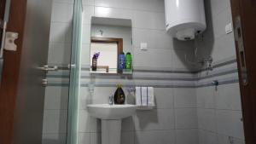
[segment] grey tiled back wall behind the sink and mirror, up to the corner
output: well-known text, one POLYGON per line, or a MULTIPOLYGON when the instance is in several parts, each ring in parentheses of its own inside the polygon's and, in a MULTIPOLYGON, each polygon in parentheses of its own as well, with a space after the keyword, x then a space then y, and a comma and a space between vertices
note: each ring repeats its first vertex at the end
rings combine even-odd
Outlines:
MULTIPOLYGON (((91 78, 82 71, 79 112, 79 144, 101 143, 101 122, 91 118, 86 110, 88 103, 108 103, 108 96, 115 91, 114 84, 154 85, 157 107, 152 111, 137 113, 122 121, 122 144, 198 143, 196 95, 193 88, 171 88, 166 76, 177 78, 177 74, 157 71, 190 71, 192 67, 184 61, 184 54, 191 55, 193 43, 178 42, 165 30, 163 0, 95 0, 84 3, 84 47, 83 66, 90 65, 90 16, 131 19, 133 41, 133 78, 91 78), (102 13, 102 11, 104 13, 102 13), (148 43, 148 50, 139 49, 140 43, 148 43), (146 70, 147 72, 140 72, 146 70), (151 72, 154 71, 154 72, 151 72), (172 76, 175 75, 175 76, 172 76), (152 79, 155 78, 155 79, 152 79), (162 79, 162 80, 160 80, 162 79), (88 92, 86 84, 95 84, 94 92, 88 92), (186 138, 184 138, 184 136, 186 138)), ((191 73, 183 73, 191 77, 191 73)), ((186 83, 186 82, 184 82, 186 83)), ((191 82, 188 81, 189 84, 191 82)), ((128 94, 128 102, 134 104, 134 94, 128 94)))

